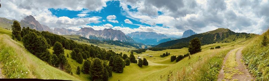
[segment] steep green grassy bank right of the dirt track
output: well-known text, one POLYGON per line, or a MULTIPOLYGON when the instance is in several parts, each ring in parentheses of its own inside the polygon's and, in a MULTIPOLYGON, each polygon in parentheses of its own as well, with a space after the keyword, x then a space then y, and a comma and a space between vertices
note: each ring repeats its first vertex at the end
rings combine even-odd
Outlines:
MULTIPOLYGON (((256 77, 256 80, 269 80, 269 45, 262 46, 262 37, 267 35, 269 38, 269 30, 255 40, 251 41, 248 46, 242 50, 244 62, 248 65, 251 74, 256 77)), ((268 41, 269 42, 269 41, 268 41)))

